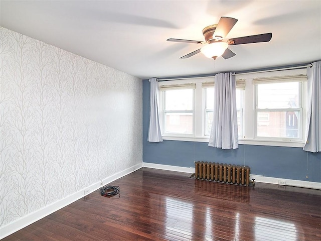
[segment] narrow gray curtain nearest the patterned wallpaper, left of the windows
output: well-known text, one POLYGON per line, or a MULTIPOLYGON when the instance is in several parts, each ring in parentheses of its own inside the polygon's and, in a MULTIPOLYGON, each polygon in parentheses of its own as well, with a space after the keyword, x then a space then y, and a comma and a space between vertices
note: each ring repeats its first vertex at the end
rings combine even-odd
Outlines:
POLYGON ((150 108, 149 108, 149 129, 148 142, 163 142, 161 128, 159 126, 159 87, 156 78, 149 79, 150 82, 150 108))

